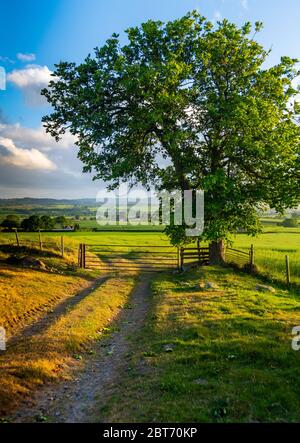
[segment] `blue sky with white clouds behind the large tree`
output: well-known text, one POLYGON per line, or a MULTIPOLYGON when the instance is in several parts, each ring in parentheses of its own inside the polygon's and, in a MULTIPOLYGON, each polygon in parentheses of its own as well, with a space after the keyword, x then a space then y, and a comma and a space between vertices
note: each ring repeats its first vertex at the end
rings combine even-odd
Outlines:
POLYGON ((264 22, 258 40, 281 55, 300 58, 299 0, 2 0, 0 66, 0 198, 95 196, 101 183, 81 174, 73 139, 45 136, 39 97, 54 64, 82 61, 113 33, 148 19, 167 21, 198 9, 210 20, 264 22), (4 141, 3 141, 4 140, 4 141))

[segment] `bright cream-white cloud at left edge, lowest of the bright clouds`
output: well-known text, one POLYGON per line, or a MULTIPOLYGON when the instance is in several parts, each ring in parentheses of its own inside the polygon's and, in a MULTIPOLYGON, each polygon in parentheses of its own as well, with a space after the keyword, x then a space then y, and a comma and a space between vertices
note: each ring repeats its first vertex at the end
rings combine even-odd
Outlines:
POLYGON ((9 138, 0 137, 0 148, 0 164, 31 170, 56 169, 56 165, 38 149, 18 148, 9 138))

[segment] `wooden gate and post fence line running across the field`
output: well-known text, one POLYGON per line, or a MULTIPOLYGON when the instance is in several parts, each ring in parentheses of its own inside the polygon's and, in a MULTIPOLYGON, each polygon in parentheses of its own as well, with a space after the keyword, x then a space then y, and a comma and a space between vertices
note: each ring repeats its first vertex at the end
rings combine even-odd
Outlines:
MULTIPOLYGON (((31 233, 31 238, 28 238, 27 233, 18 232, 17 230, 12 234, 10 239, 6 239, 6 245, 16 246, 20 248, 39 249, 40 251, 51 250, 60 256, 64 257, 66 253, 74 254, 77 251, 78 243, 70 242, 68 239, 65 245, 64 237, 47 237, 45 232, 31 233)), ((83 252, 79 246, 78 264, 83 267, 83 264, 89 268, 97 267, 98 269, 106 269, 112 267, 122 267, 122 269, 129 269, 138 267, 139 269, 149 268, 157 270, 184 270, 194 266, 209 265, 209 248, 200 247, 164 247, 157 250, 155 245, 145 245, 142 248, 137 245, 111 245, 109 243, 103 245, 87 245, 87 249, 83 252), (166 249, 169 248, 169 249, 166 249), (125 260, 128 262, 125 264, 125 260)), ((244 268, 248 266, 249 269, 255 269, 258 274, 266 276, 269 280, 285 282, 287 285, 299 285, 299 263, 295 262, 295 257, 282 254, 281 257, 276 257, 276 263, 267 253, 261 257, 261 250, 258 249, 257 257, 253 245, 248 250, 241 250, 227 247, 225 249, 225 262, 231 265, 244 268), (294 260, 293 260, 294 259, 294 260), (257 266, 258 265, 258 266, 257 266)), ((297 258, 297 257, 296 257, 297 258)))

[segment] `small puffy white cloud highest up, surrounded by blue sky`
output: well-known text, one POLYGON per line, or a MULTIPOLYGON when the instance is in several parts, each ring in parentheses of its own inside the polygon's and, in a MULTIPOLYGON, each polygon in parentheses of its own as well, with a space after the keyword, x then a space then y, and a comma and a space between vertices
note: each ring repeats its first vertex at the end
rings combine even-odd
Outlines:
POLYGON ((24 69, 14 69, 7 74, 7 81, 20 88, 28 104, 44 105, 46 99, 41 96, 41 90, 48 86, 52 72, 48 66, 27 65, 24 69))

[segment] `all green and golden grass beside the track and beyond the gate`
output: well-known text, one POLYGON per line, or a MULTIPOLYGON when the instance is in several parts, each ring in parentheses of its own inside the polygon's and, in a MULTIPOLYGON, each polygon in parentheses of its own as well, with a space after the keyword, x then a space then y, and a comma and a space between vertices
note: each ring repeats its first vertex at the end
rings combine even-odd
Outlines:
MULTIPOLYGON (((53 249, 55 242, 58 252, 60 235, 42 233, 45 246, 50 242, 53 249)), ((100 275, 73 266, 80 243, 108 245, 106 249, 111 251, 111 245, 122 245, 124 258, 132 254, 134 245, 145 250, 169 245, 161 232, 63 235, 65 259, 53 254, 55 251, 35 250, 37 257, 53 268, 41 272, 6 264, 6 257, 19 250, 4 247, 16 243, 13 233, 0 234, 0 323, 8 332, 14 334, 15 325, 21 328, 49 315, 57 303, 71 299, 100 275)), ((34 242, 38 246, 38 233, 19 236, 21 245, 34 242)), ((182 275, 153 274, 145 326, 138 335, 128 337, 132 349, 128 372, 105 408, 99 405, 101 417, 108 422, 299 421, 300 354, 291 348, 292 328, 300 324, 299 290, 298 286, 289 290, 276 283, 284 281, 288 254, 292 281, 300 284, 299 240, 299 228, 278 226, 266 226, 257 238, 245 234, 234 238, 234 247, 239 249, 247 250, 254 244, 256 263, 274 280, 275 293, 259 292, 259 277, 229 267, 203 267, 182 275), (218 289, 199 289, 199 283, 205 281, 215 282, 218 289), (172 352, 165 352, 166 345, 172 346, 172 352)), ((30 250, 21 249, 20 253, 30 250)), ((118 275, 111 273, 102 289, 67 310, 44 333, 33 335, 30 351, 22 343, 14 346, 3 358, 0 371, 0 411, 1 406, 3 411, 13 410, 38 386, 63 378, 57 368, 65 362, 72 365, 75 354, 88 358, 100 326, 110 327, 120 306, 130 302, 136 278, 125 269, 118 275), (70 325, 76 326, 71 335, 70 325), (53 341, 57 336, 60 340, 53 341)))

